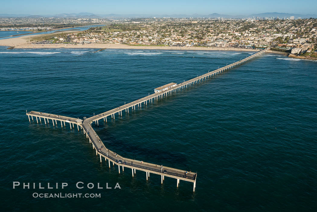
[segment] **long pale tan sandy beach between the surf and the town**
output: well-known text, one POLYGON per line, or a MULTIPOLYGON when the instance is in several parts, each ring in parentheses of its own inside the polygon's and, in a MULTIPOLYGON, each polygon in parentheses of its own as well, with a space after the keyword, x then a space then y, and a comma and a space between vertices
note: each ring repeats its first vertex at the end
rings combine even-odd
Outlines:
MULTIPOLYGON (((65 31, 71 32, 71 31, 65 31)), ((53 35, 54 33, 52 33, 53 35)), ((178 46, 131 46, 117 43, 87 43, 87 44, 31 44, 29 40, 38 35, 26 35, 0 40, 0 46, 14 47, 16 49, 36 48, 93 48, 93 49, 150 49, 150 50, 212 50, 212 51, 257 51, 253 49, 240 48, 217 48, 217 47, 178 47, 178 46)))

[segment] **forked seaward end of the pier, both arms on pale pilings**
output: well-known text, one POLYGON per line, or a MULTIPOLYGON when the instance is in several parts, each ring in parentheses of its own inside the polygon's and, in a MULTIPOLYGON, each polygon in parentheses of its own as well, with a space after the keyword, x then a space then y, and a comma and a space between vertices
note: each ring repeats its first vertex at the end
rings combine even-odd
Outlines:
POLYGON ((88 119, 81 120, 67 116, 59 116, 55 114, 42 113, 37 111, 27 112, 26 115, 29 117, 29 122, 31 122, 31 120, 37 120, 37 123, 43 121, 45 124, 51 122, 53 123, 53 126, 59 126, 60 123, 61 127, 68 126, 65 124, 65 122, 67 122, 69 123, 70 129, 75 129, 74 126, 76 125, 78 131, 82 130, 83 134, 89 140, 89 143, 92 144, 92 148, 96 151, 96 156, 99 155, 100 157, 100 162, 102 162, 103 159, 105 159, 105 162, 108 161, 109 168, 111 168, 111 166, 117 165, 119 173, 121 169, 122 171, 124 171, 125 167, 132 170, 133 177, 136 174, 136 170, 144 171, 146 172, 146 180, 148 180, 150 173, 158 174, 161 176, 161 183, 163 183, 165 176, 167 176, 177 179, 177 187, 179 184, 179 180, 193 182, 193 190, 195 191, 197 173, 165 167, 153 163, 133 160, 120 156, 117 153, 105 147, 104 143, 101 141, 97 133, 92 128, 92 122, 88 121, 88 119))

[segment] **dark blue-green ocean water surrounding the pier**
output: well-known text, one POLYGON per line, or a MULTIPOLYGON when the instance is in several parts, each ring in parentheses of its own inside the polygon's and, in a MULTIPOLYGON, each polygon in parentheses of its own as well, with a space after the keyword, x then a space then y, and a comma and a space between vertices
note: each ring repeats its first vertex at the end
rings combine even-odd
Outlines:
POLYGON ((0 47, 1 211, 316 211, 317 62, 262 55, 93 124, 122 156, 197 172, 193 192, 190 182, 177 188, 168 177, 161 184, 159 175, 146 181, 141 171, 119 174, 100 163, 82 131, 29 123, 25 110, 90 117, 252 52, 94 51, 0 47), (68 187, 13 189, 15 181, 68 187), (34 198, 35 192, 101 197, 34 198))

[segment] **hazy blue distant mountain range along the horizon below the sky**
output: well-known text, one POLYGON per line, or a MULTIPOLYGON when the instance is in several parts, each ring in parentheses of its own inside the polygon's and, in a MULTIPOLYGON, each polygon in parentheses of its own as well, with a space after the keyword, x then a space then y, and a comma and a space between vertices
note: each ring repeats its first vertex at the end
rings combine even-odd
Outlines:
POLYGON ((172 17, 172 18, 189 18, 189 17, 194 17, 194 18, 252 18, 252 17, 291 17, 294 16, 295 18, 301 17, 301 18, 317 18, 317 15, 315 14, 307 14, 307 15, 301 15, 301 14, 292 14, 292 13, 279 13, 279 12, 267 12, 267 13, 259 13, 259 14, 252 14, 252 15, 238 15, 238 16, 231 16, 231 15, 221 15, 218 13, 212 13, 209 15, 199 15, 199 14, 193 14, 193 15, 184 15, 184 14, 172 14, 172 15, 149 15, 149 14, 94 14, 94 13, 89 13, 89 12, 81 12, 81 13, 61 13, 61 14, 55 14, 55 15, 25 15, 25 14, 0 14, 0 17, 74 17, 74 18, 153 18, 153 17, 172 17))

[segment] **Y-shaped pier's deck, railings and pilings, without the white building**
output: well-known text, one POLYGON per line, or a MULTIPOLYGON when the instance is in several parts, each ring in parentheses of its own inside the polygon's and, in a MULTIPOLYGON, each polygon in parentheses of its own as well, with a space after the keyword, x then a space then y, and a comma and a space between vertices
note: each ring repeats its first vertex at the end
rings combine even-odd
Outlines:
MULTIPOLYGON (((97 125, 98 124, 98 120, 100 120, 101 118, 104 119, 105 122, 107 122, 107 116, 110 116, 111 115, 111 118, 114 119, 114 115, 115 113, 121 113, 121 116, 122 116, 122 110, 126 110, 127 113, 129 113, 129 107, 134 107, 135 109, 135 106, 138 105, 139 107, 141 107, 141 104, 144 103, 144 104, 147 104, 147 101, 149 100, 149 103, 150 103, 150 100, 151 100, 151 103, 152 103, 152 99, 154 98, 155 99, 158 99, 159 97, 163 97, 164 95, 166 96, 167 94, 169 93, 172 93, 172 92, 176 92, 176 90, 180 90, 180 89, 184 89, 185 86, 187 88, 187 86, 191 86, 191 84, 194 84, 194 83, 198 83, 200 82, 200 80, 204 80, 208 77, 212 77, 214 76, 215 74, 218 74, 218 73, 221 73, 222 71, 224 70, 227 70, 227 69, 230 69, 230 68, 233 68, 241 63, 244 63, 256 56, 259 56, 261 54, 264 54, 267 50, 269 50, 269 48, 265 49, 265 50, 261 50, 259 52, 256 52, 255 54, 249 56, 249 57, 246 57, 244 59, 241 59, 240 61, 237 61, 235 63, 232 63, 230 65, 226 65, 222 68, 218 68, 217 70, 214 70, 214 71, 211 71, 211 72, 208 72, 208 73, 205 73, 201 76, 197 76, 195 78, 192 78, 192 79, 189 79, 187 81, 184 81, 183 83, 180 83, 178 85, 176 85, 175 87, 171 88, 171 89, 168 89, 168 90, 165 90, 165 91, 162 91, 162 92, 157 92, 157 93, 154 93, 152 95, 149 95, 149 96, 145 96, 143 98, 140 98, 136 101, 133 101, 131 103, 127 103, 127 104, 124 104, 118 108, 115 108, 115 109, 112 109, 112 110, 108 110, 102 114, 98 114, 96 116, 92 116, 92 117, 89 117, 88 119, 84 119, 81 120, 79 118, 75 119, 75 118, 71 118, 71 117, 67 117, 67 116, 57 116, 57 115, 54 115, 54 114, 49 114, 49 113, 41 113, 41 112, 36 112, 36 111, 31 111, 31 112, 27 112, 26 115, 29 117, 31 116, 32 117, 32 120, 33 120, 33 116, 36 116, 36 121, 38 123, 38 120, 37 120, 37 117, 40 118, 40 122, 41 122, 41 117, 44 118, 44 122, 46 124, 46 120, 45 118, 47 119, 47 121, 49 121, 49 119, 51 119, 53 121, 53 125, 54 125, 54 120, 55 120, 55 123, 57 124, 56 120, 60 121, 61 122, 61 126, 62 126, 62 122, 64 122, 64 126, 65 126, 65 122, 68 122, 69 125, 70 125, 70 129, 72 129, 71 127, 71 124, 70 123, 73 123, 73 127, 74 127, 74 124, 77 124, 77 129, 79 131, 79 128, 78 126, 81 126, 84 130, 84 134, 86 133, 86 136, 87 138, 89 137, 89 141, 92 143, 93 145, 93 149, 96 150, 96 155, 99 154, 100 156, 100 162, 102 161, 101 160, 101 156, 103 156, 105 159, 108 159, 108 162, 109 162, 109 168, 110 168, 110 161, 113 162, 113 165, 116 164, 118 165, 118 168, 119 168, 119 173, 120 173, 120 166, 122 166, 122 169, 123 167, 128 167, 128 168, 131 168, 132 169, 132 176, 133 176, 133 172, 135 173, 135 170, 138 169, 138 170, 141 170, 141 171, 145 171, 146 172, 146 180, 148 179, 148 176, 149 176, 149 173, 154 173, 154 174, 158 174, 158 175, 161 175, 161 183, 163 183, 163 180, 164 180, 164 176, 168 176, 168 177, 172 177, 172 178, 176 178, 177 179, 177 186, 178 186, 178 183, 179 183, 179 180, 184 180, 184 181, 189 181, 189 182, 193 182, 194 183, 194 187, 193 187, 193 191, 195 191, 195 188, 196 188, 196 177, 197 177, 197 173, 188 173, 187 171, 184 171, 184 170, 180 170, 180 169, 173 169, 173 168, 170 168, 170 167, 162 167, 162 166, 159 166, 157 164, 152 164, 152 163, 147 163, 147 162, 141 162, 141 161, 136 161, 136 160, 132 160, 132 159, 129 159, 129 158, 124 158, 120 155, 117 155, 115 152, 107 149, 103 142, 100 140, 99 136, 96 134, 96 132, 94 131, 94 129, 92 128, 91 126, 91 123, 94 121, 97 125), (85 126, 89 126, 88 130, 85 126), (94 136, 91 136, 91 134, 94 134, 94 136), (99 142, 100 143, 99 143, 99 142), (97 142, 97 143, 96 143, 97 142), (100 147, 100 148, 99 148, 100 147), (108 152, 103 152, 102 151, 102 147, 105 147, 104 150, 108 151, 108 152), (115 155, 114 156, 110 156, 110 154, 113 154, 115 155), (134 170, 133 170, 134 169, 134 170)), ((120 115, 119 115, 120 116, 120 115)), ((29 121, 30 121, 30 117, 29 117, 29 121)), ((30 121, 31 122, 31 121, 30 121)))

